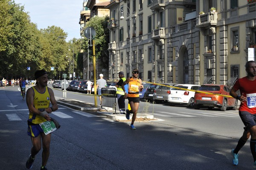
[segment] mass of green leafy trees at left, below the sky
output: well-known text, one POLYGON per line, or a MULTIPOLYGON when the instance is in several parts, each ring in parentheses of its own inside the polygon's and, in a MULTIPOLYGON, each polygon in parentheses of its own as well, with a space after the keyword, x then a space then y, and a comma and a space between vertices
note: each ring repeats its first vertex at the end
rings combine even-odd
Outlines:
POLYGON ((81 44, 77 39, 66 42, 66 38, 67 33, 57 26, 38 30, 23 6, 14 0, 0 0, 0 77, 34 79, 37 69, 50 71, 51 67, 56 69, 49 78, 60 71, 67 73, 72 56, 68 49, 72 47, 77 56, 81 44))

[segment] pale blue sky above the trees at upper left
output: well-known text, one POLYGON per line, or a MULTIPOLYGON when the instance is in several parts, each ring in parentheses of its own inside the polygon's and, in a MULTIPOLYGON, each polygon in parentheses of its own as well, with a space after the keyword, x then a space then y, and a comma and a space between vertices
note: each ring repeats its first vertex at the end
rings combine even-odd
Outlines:
POLYGON ((15 0, 29 12, 32 23, 38 29, 48 26, 59 26, 66 32, 66 41, 80 36, 80 11, 83 9, 84 0, 15 0))

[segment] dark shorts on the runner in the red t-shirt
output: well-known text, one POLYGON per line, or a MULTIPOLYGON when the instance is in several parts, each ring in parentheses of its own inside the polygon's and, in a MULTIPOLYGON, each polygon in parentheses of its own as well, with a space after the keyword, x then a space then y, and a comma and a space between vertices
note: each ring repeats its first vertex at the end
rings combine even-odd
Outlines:
POLYGON ((239 116, 244 123, 244 130, 249 130, 251 127, 256 126, 256 114, 251 114, 247 111, 239 111, 239 116))

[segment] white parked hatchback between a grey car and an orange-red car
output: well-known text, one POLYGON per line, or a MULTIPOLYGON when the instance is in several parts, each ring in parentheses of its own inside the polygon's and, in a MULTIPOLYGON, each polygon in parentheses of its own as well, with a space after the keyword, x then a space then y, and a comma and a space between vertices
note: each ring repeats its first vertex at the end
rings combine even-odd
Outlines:
MULTIPOLYGON (((199 85, 195 84, 176 84, 174 87, 180 87, 183 89, 190 89, 190 90, 198 90, 200 88, 199 85)), ((175 104, 186 104, 187 107, 194 107, 194 96, 195 92, 177 89, 171 89, 171 94, 168 96, 168 102, 171 105, 175 104)))

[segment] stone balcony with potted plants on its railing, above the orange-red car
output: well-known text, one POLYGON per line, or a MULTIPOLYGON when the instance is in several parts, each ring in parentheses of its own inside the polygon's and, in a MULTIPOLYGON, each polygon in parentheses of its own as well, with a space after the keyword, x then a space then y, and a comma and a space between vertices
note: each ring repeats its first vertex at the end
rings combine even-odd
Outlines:
POLYGON ((215 34, 215 26, 217 25, 218 15, 217 12, 208 12, 196 17, 196 28, 199 28, 204 34, 204 31, 210 29, 212 34, 215 34))

